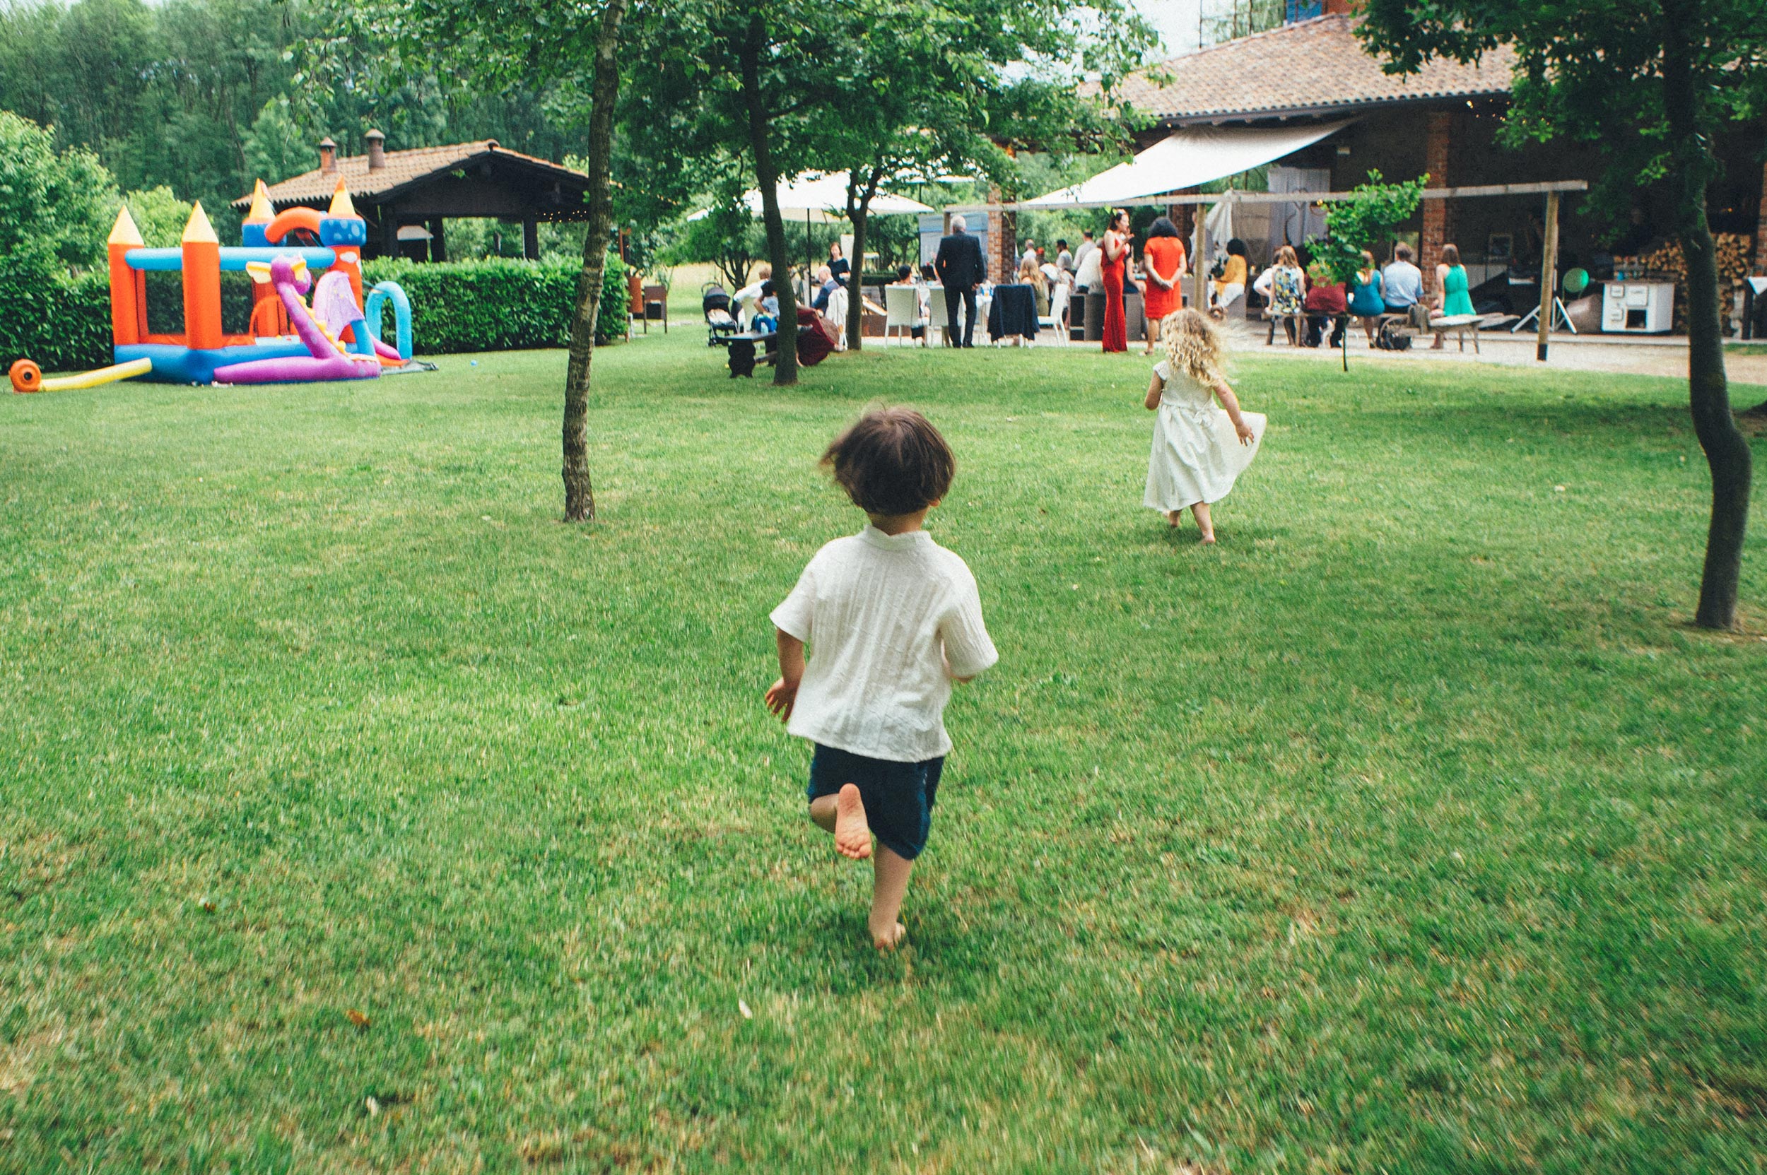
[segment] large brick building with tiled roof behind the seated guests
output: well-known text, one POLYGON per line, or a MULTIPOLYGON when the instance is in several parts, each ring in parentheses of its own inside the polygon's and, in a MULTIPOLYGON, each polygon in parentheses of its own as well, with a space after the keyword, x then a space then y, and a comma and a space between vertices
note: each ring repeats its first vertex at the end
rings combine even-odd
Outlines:
MULTIPOLYGON (((1592 145, 1553 141, 1511 150, 1497 143, 1509 102, 1513 57, 1507 49, 1475 65, 1437 60, 1419 74, 1396 78, 1382 72, 1380 60, 1362 49, 1355 18, 1343 7, 1345 0, 1329 0, 1325 16, 1177 57, 1157 71, 1127 78, 1126 97, 1154 118, 1138 134, 1136 148, 1150 147, 1177 127, 1295 127, 1350 118, 1341 131, 1272 161, 1272 191, 1345 191, 1364 182, 1369 170, 1389 180, 1428 171, 1430 184, 1442 187, 1594 180, 1601 173, 1592 145), (1166 78, 1156 83, 1154 72, 1166 78)), ((1763 138, 1760 125, 1735 127, 1721 138, 1725 171, 1709 203, 1714 231, 1755 237, 1758 265, 1767 265, 1763 138)), ((1672 237, 1672 200, 1666 186, 1640 187, 1634 203, 1643 223, 1638 231, 1672 237)), ((1562 205, 1562 267, 1596 262, 1613 228, 1580 205, 1578 198, 1562 205)), ((1173 214, 1179 219, 1184 208, 1175 207, 1173 214)), ((1445 242, 1460 246, 1477 281, 1511 265, 1536 269, 1541 221, 1539 196, 1426 200, 1401 235, 1415 237, 1419 263, 1431 281, 1445 242)), ((1297 228, 1316 231, 1302 221, 1286 230, 1290 240, 1297 228)), ((1009 223, 1007 230, 995 233, 1002 246, 1011 237, 1009 223)), ((1283 226, 1270 231, 1278 244, 1285 239, 1283 226)), ((1248 244, 1256 254, 1258 242, 1248 235, 1248 244)))

